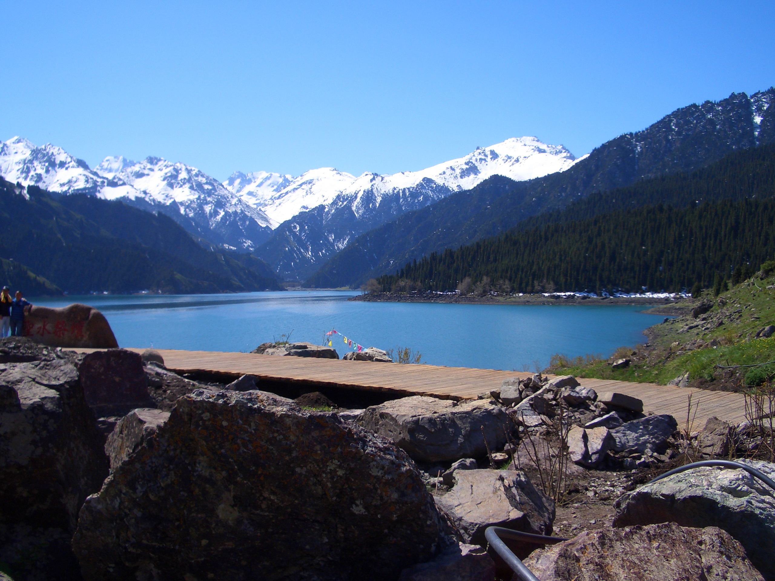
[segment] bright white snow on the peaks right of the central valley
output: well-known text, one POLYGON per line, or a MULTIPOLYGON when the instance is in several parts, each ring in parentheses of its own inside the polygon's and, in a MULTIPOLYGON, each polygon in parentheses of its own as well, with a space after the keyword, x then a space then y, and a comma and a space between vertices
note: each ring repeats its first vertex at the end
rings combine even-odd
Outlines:
POLYGON ((429 201, 433 201, 453 191, 469 190, 494 175, 530 180, 567 170, 574 161, 573 154, 563 146, 547 145, 536 137, 512 137, 425 170, 398 174, 367 172, 354 177, 331 167, 321 167, 293 178, 286 185, 275 178, 270 187, 264 186, 261 180, 279 174, 238 172, 224 185, 280 223, 319 205, 351 205, 360 216, 367 208, 379 205, 385 196, 400 196, 409 188, 420 187, 422 192, 428 192, 429 201))

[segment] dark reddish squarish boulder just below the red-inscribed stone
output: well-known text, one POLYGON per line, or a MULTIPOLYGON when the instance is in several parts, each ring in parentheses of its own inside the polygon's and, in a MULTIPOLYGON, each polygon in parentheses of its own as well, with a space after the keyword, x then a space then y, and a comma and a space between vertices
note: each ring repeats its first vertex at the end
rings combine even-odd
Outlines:
POLYGON ((156 407, 140 355, 126 349, 95 351, 78 366, 86 403, 100 418, 124 415, 136 407, 156 407))

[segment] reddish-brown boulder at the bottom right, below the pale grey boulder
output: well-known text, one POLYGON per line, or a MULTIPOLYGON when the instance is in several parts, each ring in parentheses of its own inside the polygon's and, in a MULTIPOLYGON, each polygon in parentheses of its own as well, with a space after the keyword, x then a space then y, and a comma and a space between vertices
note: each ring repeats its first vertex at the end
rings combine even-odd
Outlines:
POLYGON ((725 531, 672 523, 585 531, 533 552, 525 566, 541 581, 763 581, 725 531))

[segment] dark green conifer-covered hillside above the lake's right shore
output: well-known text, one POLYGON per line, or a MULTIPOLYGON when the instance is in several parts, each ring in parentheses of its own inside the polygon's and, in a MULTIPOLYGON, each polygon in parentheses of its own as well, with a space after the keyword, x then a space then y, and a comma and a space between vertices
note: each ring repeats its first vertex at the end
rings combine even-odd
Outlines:
POLYGON ((775 144, 593 194, 529 229, 432 253, 378 282, 382 290, 454 290, 466 277, 520 292, 709 287, 775 254, 773 197, 775 144))

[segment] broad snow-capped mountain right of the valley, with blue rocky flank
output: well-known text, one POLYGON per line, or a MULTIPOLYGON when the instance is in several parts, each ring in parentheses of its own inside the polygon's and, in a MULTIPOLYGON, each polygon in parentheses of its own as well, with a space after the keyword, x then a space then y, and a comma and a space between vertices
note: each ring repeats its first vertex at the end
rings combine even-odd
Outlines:
MULTIPOLYGON (((282 224, 257 253, 282 276, 304 278, 353 236, 406 211, 469 190, 494 175, 529 180, 567 170, 576 161, 563 146, 521 137, 479 147, 425 170, 359 177, 332 168, 308 171, 265 194, 261 208, 282 224)), ((250 185, 241 184, 242 192, 252 191, 250 185)))

